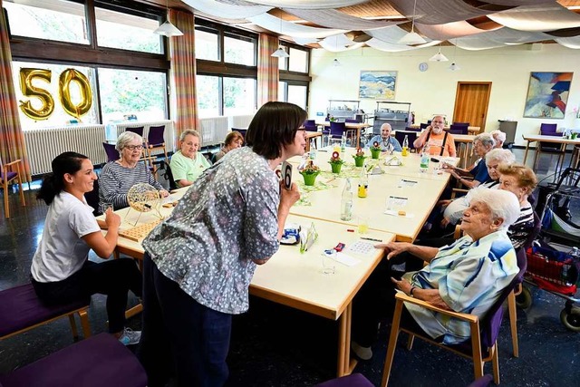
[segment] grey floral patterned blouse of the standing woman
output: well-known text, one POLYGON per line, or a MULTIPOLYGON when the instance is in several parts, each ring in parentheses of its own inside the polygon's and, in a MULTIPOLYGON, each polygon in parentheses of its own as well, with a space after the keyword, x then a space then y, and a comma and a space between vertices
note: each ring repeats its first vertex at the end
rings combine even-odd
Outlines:
POLYGON ((199 304, 248 308, 253 259, 278 250, 278 179, 251 148, 232 150, 196 179, 169 218, 143 241, 160 272, 199 304))

